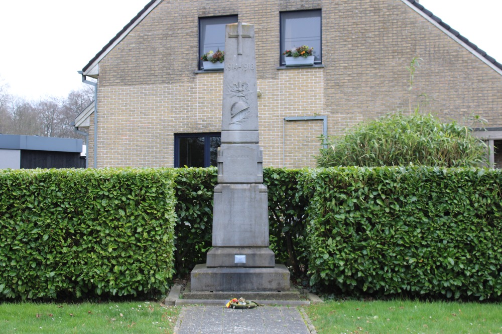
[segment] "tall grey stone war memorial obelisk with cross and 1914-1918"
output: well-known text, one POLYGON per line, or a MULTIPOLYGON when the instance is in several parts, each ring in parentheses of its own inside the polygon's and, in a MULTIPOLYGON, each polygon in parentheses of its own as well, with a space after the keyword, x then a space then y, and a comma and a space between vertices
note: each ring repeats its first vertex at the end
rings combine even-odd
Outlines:
POLYGON ((221 147, 213 248, 191 273, 191 291, 287 291, 290 273, 269 249, 267 187, 259 145, 255 27, 226 26, 221 147))

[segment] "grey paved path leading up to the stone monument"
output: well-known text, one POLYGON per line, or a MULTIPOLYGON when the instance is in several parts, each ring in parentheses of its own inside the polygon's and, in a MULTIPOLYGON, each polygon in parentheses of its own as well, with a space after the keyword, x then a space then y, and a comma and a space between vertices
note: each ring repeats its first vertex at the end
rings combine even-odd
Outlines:
POLYGON ((305 312, 297 307, 263 306, 232 309, 224 306, 184 306, 178 316, 174 332, 176 334, 313 334, 315 330, 305 312))

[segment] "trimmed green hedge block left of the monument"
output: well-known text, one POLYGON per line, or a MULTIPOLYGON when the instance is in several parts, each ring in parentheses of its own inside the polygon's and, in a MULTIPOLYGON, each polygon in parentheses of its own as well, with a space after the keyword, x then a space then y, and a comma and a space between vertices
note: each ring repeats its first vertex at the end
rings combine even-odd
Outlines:
POLYGON ((173 170, 0 171, 0 299, 164 292, 173 170))

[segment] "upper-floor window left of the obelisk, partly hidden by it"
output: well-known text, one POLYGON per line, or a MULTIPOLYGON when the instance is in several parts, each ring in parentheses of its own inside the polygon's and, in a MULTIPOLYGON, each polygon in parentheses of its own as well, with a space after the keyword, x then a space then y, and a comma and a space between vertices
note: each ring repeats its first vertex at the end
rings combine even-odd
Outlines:
POLYGON ((225 26, 236 22, 236 16, 199 18, 199 69, 202 69, 203 54, 218 49, 225 51, 225 26))

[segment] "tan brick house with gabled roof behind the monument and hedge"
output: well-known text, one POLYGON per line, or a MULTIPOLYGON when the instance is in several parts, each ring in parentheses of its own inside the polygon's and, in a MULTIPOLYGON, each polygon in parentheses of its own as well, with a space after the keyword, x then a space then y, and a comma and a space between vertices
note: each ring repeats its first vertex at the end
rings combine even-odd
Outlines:
POLYGON ((502 65, 418 1, 152 0, 81 71, 96 87, 76 120, 89 166, 214 164, 223 73, 200 56, 223 50, 222 27, 237 20, 255 25, 265 166, 313 166, 321 134, 407 111, 421 93, 422 111, 461 124, 474 113, 488 121, 476 134, 502 141, 502 65), (300 45, 314 47, 314 65, 285 66, 282 52, 300 45))

